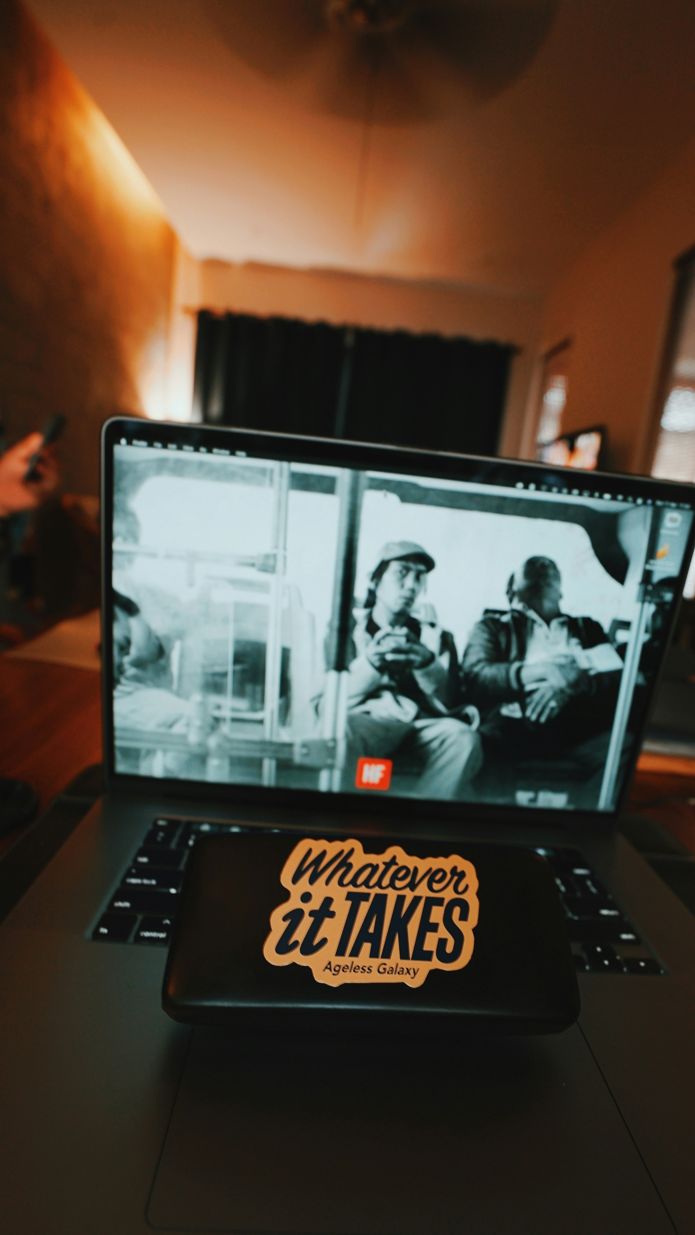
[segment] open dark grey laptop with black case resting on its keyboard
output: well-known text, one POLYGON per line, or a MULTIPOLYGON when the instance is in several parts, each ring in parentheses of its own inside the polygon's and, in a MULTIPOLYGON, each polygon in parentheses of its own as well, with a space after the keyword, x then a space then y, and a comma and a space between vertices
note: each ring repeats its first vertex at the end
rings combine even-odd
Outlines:
POLYGON ((617 830, 694 516, 641 477, 105 426, 107 793, 0 926, 4 1230, 695 1230, 695 923, 617 830), (579 1021, 175 1023, 189 856, 269 830, 541 853, 579 1021))

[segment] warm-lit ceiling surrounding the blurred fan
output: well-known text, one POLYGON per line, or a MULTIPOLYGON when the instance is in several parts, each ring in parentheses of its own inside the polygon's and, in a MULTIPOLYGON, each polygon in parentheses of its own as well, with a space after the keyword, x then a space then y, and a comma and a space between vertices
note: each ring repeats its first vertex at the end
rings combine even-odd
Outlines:
POLYGON ((693 0, 560 0, 512 85, 401 126, 377 100, 368 149, 235 54, 210 0, 30 6, 200 258, 542 295, 695 135, 693 0))

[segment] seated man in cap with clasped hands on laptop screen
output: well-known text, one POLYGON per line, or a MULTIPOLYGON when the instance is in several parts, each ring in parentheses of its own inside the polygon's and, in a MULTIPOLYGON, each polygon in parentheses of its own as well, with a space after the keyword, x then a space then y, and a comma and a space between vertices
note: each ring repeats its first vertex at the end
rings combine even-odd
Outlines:
POLYGON ((453 635, 412 616, 435 559, 414 541, 389 541, 372 572, 351 648, 347 767, 390 757, 418 773, 425 798, 460 798, 483 763, 475 709, 460 703, 453 635))

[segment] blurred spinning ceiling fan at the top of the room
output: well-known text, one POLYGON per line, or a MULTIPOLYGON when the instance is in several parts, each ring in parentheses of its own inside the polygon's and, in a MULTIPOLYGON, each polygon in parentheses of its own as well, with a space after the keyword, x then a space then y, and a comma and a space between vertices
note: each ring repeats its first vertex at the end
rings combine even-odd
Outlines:
POLYGON ((202 0, 218 36, 306 106, 414 125, 500 94, 558 0, 202 0))

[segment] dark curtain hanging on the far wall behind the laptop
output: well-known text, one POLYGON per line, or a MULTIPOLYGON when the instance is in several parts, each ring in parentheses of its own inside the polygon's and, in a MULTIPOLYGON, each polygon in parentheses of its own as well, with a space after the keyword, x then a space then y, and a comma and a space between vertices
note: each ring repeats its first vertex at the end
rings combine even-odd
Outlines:
POLYGON ((205 424, 495 454, 514 348, 226 314, 198 317, 205 424))

